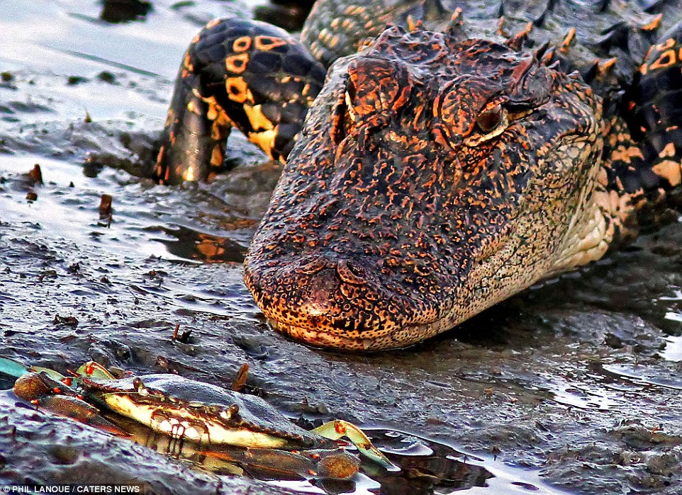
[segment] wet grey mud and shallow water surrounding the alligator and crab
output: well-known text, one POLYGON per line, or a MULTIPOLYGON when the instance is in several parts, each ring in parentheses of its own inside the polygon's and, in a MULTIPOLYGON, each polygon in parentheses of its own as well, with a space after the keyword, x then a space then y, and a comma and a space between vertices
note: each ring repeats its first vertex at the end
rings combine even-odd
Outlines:
MULTIPOLYGON (((96 1, 4 2, 0 355, 219 385, 247 362, 250 392, 302 426, 380 428, 389 454, 419 458, 407 481, 365 467, 353 487, 286 485, 295 492, 375 493, 381 482, 391 494, 682 493, 679 224, 406 351, 328 353, 267 328, 240 261, 279 167, 235 135, 236 168, 213 183, 139 177, 186 43, 213 16, 252 7, 159 0, 146 18, 111 24, 96 1), (34 164, 43 184, 23 175, 34 164), (174 341, 178 324, 186 338, 174 341)), ((0 409, 0 453, 3 483, 284 490, 14 403, 0 409)))

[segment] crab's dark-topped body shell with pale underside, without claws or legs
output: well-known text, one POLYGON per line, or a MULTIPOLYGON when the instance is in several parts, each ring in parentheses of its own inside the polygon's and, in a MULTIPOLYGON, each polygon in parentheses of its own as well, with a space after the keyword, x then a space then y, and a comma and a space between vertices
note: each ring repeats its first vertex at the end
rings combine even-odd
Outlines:
POLYGON ((91 401, 177 438, 250 448, 337 447, 294 425, 260 397, 177 375, 82 377, 79 385, 91 401))

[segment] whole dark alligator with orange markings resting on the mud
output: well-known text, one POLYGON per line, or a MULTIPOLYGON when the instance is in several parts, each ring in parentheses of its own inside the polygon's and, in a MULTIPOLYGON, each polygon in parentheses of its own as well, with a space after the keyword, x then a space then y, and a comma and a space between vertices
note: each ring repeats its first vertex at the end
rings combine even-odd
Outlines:
POLYGON ((286 162, 244 263, 311 346, 403 348, 595 261, 682 204, 681 0, 320 0, 300 38, 211 21, 155 178, 231 127, 286 162))

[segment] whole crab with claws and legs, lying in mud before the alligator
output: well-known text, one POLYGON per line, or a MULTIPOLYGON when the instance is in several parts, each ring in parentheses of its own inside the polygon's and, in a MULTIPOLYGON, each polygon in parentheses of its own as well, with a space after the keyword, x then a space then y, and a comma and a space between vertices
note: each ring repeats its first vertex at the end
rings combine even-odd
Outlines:
POLYGON ((337 419, 306 431, 260 397, 179 375, 116 378, 90 361, 67 377, 6 358, 0 358, 0 372, 16 377, 13 392, 20 399, 121 436, 128 432, 101 416, 100 409, 133 419, 169 438, 199 445, 205 449, 203 454, 220 459, 225 459, 220 447, 232 445, 246 448, 247 457, 261 452, 281 462, 306 466, 302 473, 306 476, 347 478, 357 471, 359 460, 344 449, 347 443, 340 439, 345 437, 360 454, 386 470, 399 470, 352 423, 337 419))

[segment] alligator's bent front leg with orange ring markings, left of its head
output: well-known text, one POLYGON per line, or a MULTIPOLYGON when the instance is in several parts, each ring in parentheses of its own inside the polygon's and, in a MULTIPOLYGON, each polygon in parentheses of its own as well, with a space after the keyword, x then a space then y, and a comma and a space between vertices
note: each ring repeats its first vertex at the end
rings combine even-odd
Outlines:
POLYGON ((286 160, 325 68, 286 31, 216 19, 192 40, 180 66, 154 178, 199 181, 219 171, 237 127, 272 159, 286 160))

